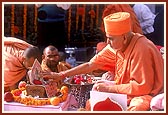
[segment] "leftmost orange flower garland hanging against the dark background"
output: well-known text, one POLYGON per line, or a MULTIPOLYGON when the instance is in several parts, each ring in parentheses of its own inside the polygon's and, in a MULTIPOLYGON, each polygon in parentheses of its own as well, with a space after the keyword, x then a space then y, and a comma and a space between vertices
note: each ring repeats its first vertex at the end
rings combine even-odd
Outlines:
POLYGON ((14 37, 14 26, 15 26, 15 5, 11 5, 11 36, 14 37))

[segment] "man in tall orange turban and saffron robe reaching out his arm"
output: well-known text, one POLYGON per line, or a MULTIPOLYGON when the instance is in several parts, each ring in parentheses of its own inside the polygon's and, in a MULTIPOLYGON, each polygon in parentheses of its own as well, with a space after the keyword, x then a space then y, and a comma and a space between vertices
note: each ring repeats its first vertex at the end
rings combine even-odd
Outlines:
POLYGON ((89 62, 64 72, 52 73, 52 78, 58 80, 96 69, 114 70, 115 84, 99 81, 92 90, 126 94, 128 111, 149 110, 152 97, 163 91, 164 63, 161 53, 145 36, 132 32, 128 12, 106 16, 104 26, 108 45, 89 62))

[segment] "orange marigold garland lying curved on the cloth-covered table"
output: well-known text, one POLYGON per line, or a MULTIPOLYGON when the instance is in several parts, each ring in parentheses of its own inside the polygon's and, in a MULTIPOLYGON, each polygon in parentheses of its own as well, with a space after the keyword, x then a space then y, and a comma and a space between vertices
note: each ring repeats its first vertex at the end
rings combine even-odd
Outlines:
POLYGON ((61 89, 57 89, 59 93, 61 93, 61 96, 54 96, 50 98, 34 98, 31 95, 27 96, 27 91, 25 89, 26 87, 22 87, 22 89, 14 89, 11 91, 13 94, 14 102, 18 102, 24 105, 33 105, 33 106, 43 106, 43 105, 54 105, 62 103, 67 100, 68 97, 68 87, 62 86, 61 89), (22 95, 21 95, 22 94, 22 95), (57 102, 55 102, 55 99, 58 99, 57 102))

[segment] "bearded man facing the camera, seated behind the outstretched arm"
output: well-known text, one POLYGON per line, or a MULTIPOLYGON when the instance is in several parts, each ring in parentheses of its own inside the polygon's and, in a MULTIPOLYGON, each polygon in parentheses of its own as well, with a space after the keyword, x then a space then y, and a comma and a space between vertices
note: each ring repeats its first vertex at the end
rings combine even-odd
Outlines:
MULTIPOLYGON (((61 59, 58 49, 52 45, 47 46, 42 55, 42 70, 45 72, 61 72, 71 68, 70 64, 61 59)), ((59 81, 58 87, 62 84, 59 81)))

